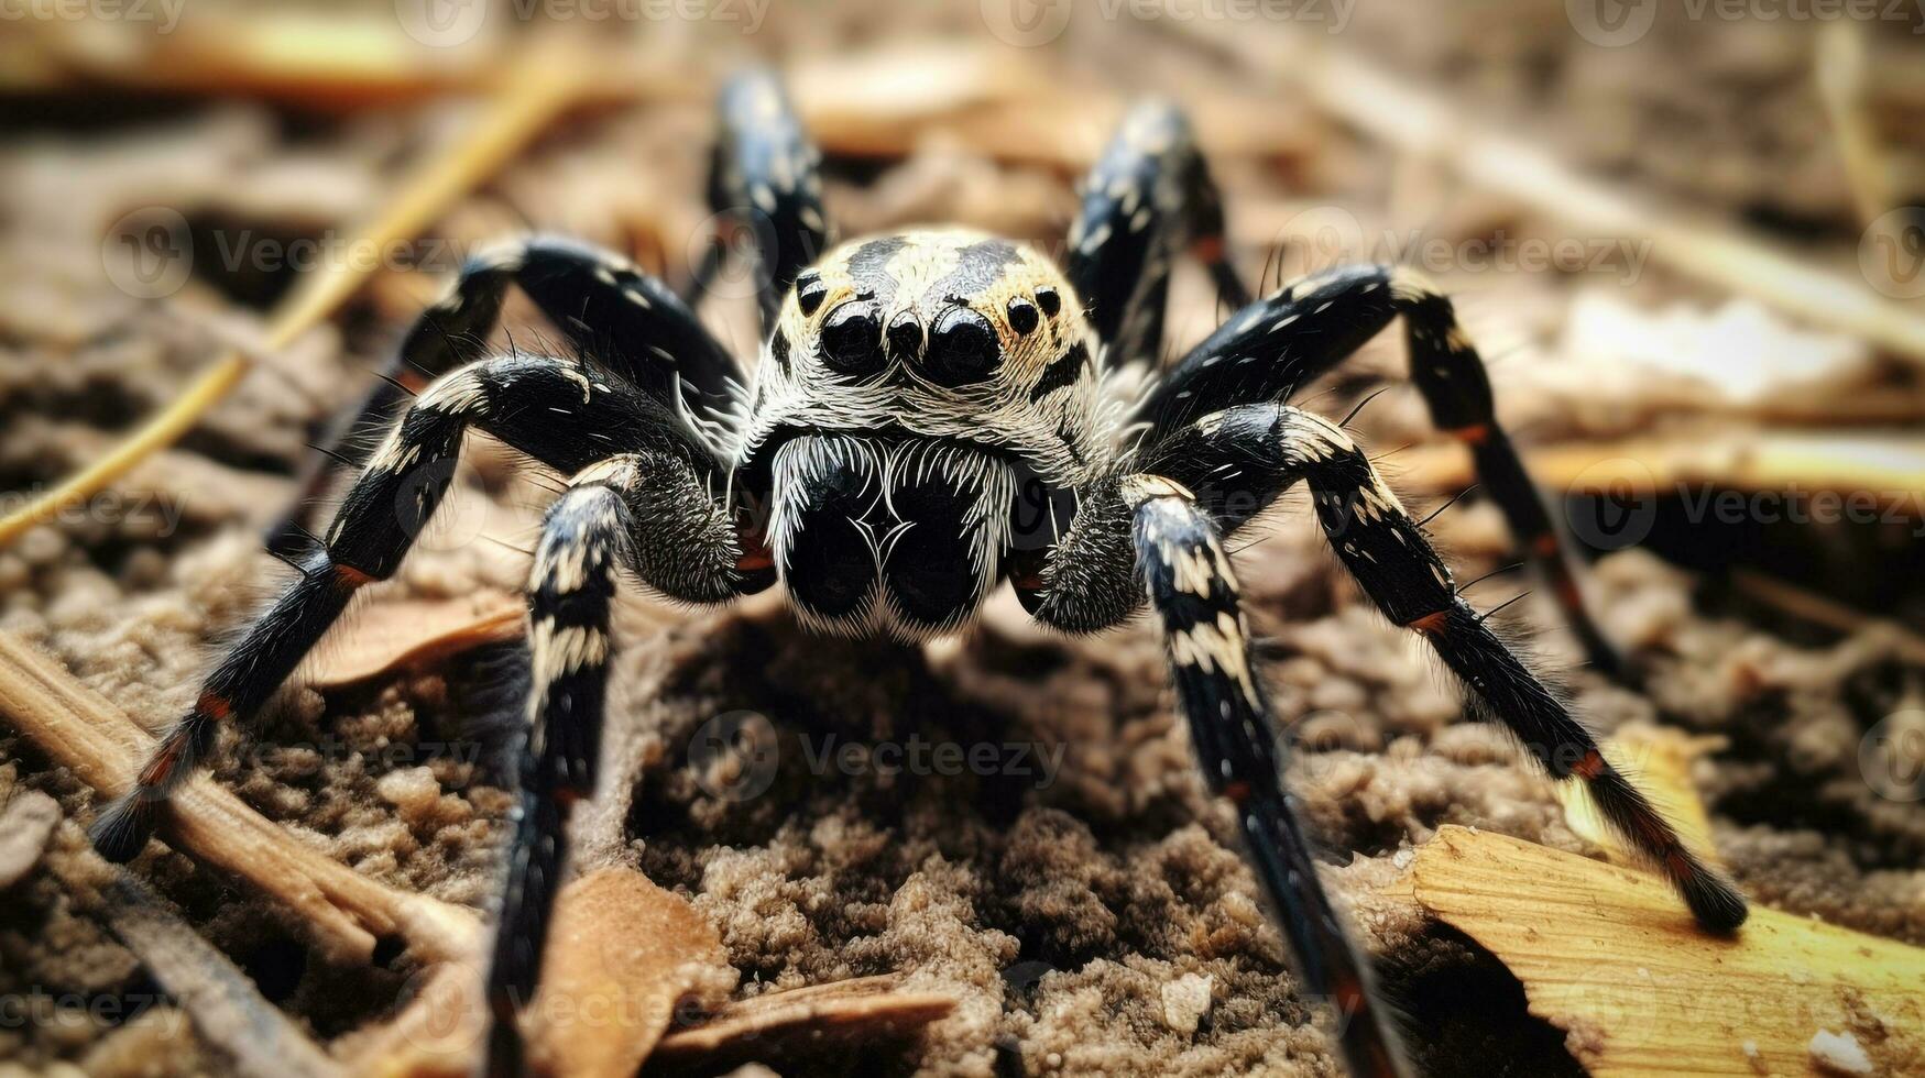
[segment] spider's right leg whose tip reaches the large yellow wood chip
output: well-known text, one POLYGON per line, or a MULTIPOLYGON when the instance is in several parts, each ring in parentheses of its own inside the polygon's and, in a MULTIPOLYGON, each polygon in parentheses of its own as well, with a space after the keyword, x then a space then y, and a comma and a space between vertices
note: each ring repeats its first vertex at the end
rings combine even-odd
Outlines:
POLYGON ((1671 880, 1698 924, 1711 932, 1744 924, 1736 887, 1684 845, 1604 758, 1598 737, 1457 595, 1423 527, 1340 427, 1288 404, 1245 404, 1176 431, 1145 450, 1142 466, 1190 485, 1232 527, 1294 483, 1307 483, 1330 545, 1376 608, 1423 635, 1484 716, 1509 728, 1544 770, 1582 782, 1629 847, 1671 880))

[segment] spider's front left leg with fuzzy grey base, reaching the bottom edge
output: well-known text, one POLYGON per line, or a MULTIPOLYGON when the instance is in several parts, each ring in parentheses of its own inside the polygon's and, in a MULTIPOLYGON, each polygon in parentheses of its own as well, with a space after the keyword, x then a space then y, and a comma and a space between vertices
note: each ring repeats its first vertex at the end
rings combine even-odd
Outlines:
POLYGON ((595 791, 608 612, 628 572, 689 603, 745 591, 732 518, 687 462, 624 454, 579 472, 549 508, 527 581, 531 691, 520 799, 487 972, 487 1074, 516 1074, 566 872, 570 808, 595 791))

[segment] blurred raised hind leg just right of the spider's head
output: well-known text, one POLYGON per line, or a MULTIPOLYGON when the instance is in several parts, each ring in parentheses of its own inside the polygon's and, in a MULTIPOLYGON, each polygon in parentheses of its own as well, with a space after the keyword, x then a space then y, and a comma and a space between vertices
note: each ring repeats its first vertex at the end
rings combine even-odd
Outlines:
POLYGON ((1161 358, 1170 262, 1186 248, 1224 302, 1249 302, 1224 244, 1222 196, 1172 102, 1134 106, 1078 192, 1065 271, 1090 304, 1109 366, 1161 358))

